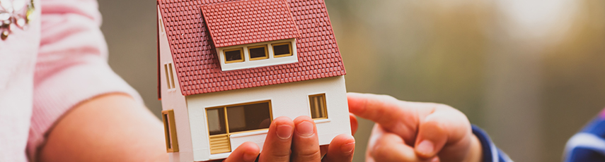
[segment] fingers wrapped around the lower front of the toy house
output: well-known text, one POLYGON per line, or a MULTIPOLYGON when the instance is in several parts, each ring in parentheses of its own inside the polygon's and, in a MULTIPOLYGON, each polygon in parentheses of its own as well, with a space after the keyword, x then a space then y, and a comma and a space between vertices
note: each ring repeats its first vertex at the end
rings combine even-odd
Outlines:
MULTIPOLYGON (((353 133, 357 118, 350 115, 353 133)), ((352 135, 338 135, 329 145, 319 146, 317 128, 313 119, 300 116, 294 120, 275 118, 265 138, 263 151, 253 142, 245 142, 231 152, 225 162, 265 161, 352 161, 355 139, 352 135), (260 156, 258 155, 260 152, 260 156), (325 155, 325 156, 324 156, 325 155), (323 159, 322 159, 323 156, 323 159)))

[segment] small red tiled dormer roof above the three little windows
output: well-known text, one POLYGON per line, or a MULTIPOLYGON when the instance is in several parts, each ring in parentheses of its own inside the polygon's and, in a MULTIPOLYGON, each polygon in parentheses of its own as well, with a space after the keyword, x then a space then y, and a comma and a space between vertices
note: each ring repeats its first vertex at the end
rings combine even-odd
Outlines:
POLYGON ((286 1, 236 1, 201 9, 217 48, 299 36, 286 1))

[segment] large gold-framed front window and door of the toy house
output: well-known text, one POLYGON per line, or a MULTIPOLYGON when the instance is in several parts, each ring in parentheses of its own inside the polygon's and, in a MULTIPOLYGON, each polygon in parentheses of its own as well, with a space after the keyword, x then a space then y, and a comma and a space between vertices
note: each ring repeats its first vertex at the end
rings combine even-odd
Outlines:
POLYGON ((231 152, 230 135, 269 128, 271 101, 206 108, 210 154, 231 152))

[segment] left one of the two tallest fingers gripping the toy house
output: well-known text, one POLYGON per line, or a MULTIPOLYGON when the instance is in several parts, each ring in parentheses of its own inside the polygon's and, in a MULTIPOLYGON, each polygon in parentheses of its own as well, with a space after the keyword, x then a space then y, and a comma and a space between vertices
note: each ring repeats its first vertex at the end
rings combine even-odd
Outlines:
POLYGON ((267 132, 259 161, 289 161, 294 123, 288 117, 275 118, 267 132))

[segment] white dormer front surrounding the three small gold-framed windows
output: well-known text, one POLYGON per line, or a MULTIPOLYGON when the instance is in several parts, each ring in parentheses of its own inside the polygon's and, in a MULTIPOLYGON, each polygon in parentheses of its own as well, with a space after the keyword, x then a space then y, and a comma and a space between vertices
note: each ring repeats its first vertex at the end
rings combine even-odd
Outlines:
POLYGON ((263 67, 263 66, 276 66, 276 65, 286 64, 286 63, 296 63, 299 61, 298 54, 296 54, 296 39, 284 39, 284 40, 277 40, 277 41, 271 41, 271 42, 260 42, 260 43, 255 43, 255 44, 243 44, 243 45, 238 45, 238 46, 220 47, 220 48, 217 48, 217 54, 219 55, 219 62, 221 63, 221 70, 223 70, 223 71, 238 70, 238 69, 245 69, 245 68, 258 68, 258 67, 263 67), (283 43, 283 42, 290 42, 292 44, 292 56, 283 56, 283 57, 275 58, 273 56, 272 44, 283 43), (248 46, 258 46, 258 45, 265 45, 265 44, 267 45, 267 53, 269 55, 269 58, 250 61, 250 54, 248 52, 248 46), (225 49, 236 49, 236 48, 243 48, 243 59, 244 59, 243 62, 225 63, 224 50, 225 49))

